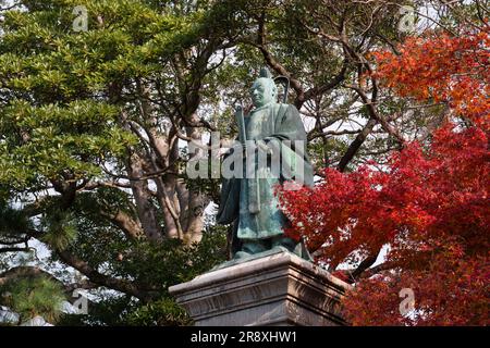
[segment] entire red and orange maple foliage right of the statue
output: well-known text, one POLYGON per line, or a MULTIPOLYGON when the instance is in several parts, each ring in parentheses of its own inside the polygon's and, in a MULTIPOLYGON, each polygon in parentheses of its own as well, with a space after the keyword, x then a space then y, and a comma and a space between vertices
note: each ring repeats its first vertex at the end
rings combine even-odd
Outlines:
POLYGON ((488 42, 488 32, 430 36, 408 39, 400 55, 377 53, 384 85, 446 102, 453 121, 466 122, 446 122, 430 144, 406 144, 381 170, 327 169, 314 188, 280 192, 286 234, 355 283, 344 300, 354 325, 490 323, 488 42), (381 263, 358 266, 383 246, 381 263), (339 270, 346 264, 356 269, 339 270), (404 288, 414 294, 408 314, 404 288))

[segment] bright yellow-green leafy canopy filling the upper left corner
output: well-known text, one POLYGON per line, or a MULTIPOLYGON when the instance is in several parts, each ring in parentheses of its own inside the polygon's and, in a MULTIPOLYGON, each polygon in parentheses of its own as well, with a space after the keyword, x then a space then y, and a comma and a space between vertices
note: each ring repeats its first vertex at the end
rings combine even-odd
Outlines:
POLYGON ((136 142, 118 122, 114 86, 160 72, 206 30, 204 14, 126 0, 22 3, 29 11, 8 11, 0 40, 0 184, 21 190, 66 170, 100 177, 101 162, 136 142), (72 29, 76 5, 90 14, 86 33, 72 29))

